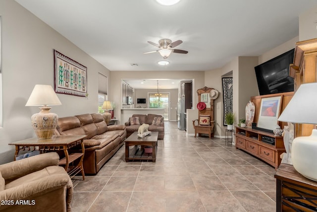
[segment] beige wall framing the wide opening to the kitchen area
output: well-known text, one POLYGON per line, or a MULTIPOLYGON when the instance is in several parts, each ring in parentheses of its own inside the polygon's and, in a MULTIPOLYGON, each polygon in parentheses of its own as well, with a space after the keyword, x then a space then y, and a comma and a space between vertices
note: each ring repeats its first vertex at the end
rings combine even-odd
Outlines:
MULTIPOLYGON (((116 105, 120 103, 121 79, 193 79, 193 90, 205 86, 204 71, 111 71, 110 72, 110 88, 111 94, 108 96, 109 101, 114 101, 116 105)), ((198 102, 198 97, 195 96, 193 105, 198 102), (196 103, 195 103, 196 102, 196 103)), ((114 110, 114 116, 117 117, 120 123, 121 110, 114 110)), ((193 128, 191 126, 191 128, 193 128)))

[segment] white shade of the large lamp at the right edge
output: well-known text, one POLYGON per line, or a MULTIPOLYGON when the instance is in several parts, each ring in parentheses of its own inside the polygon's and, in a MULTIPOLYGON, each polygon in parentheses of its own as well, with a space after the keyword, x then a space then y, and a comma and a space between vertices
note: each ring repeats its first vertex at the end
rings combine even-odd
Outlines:
POLYGON ((317 83, 301 84, 278 118, 281 122, 317 124, 317 83))

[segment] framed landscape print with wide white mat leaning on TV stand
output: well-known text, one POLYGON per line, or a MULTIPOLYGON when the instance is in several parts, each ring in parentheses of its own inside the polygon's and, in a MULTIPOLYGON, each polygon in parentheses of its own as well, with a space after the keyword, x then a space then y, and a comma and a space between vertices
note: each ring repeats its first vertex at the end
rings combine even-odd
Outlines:
POLYGON ((281 109, 281 96, 261 99, 258 128, 274 130, 281 109))

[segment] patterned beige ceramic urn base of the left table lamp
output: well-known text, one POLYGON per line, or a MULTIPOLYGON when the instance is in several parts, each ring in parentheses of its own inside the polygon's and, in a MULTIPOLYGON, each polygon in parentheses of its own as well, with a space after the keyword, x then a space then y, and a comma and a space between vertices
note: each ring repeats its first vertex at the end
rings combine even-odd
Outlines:
POLYGON ((40 113, 31 117, 33 129, 39 139, 51 139, 57 126, 58 116, 50 112, 50 107, 40 107, 40 109, 40 113))

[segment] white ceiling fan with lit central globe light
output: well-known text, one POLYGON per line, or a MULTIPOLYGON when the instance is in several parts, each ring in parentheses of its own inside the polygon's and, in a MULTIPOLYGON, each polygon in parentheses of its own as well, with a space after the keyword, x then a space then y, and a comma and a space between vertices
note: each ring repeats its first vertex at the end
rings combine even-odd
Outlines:
POLYGON ((143 54, 150 54, 150 53, 154 53, 154 52, 159 52, 159 54, 164 59, 166 59, 172 52, 180 53, 180 54, 187 54, 188 53, 188 51, 185 51, 185 50, 172 49, 172 48, 178 46, 179 44, 183 43, 183 41, 181 41, 181 40, 177 40, 177 41, 174 41, 172 43, 172 41, 169 39, 161 39, 161 40, 159 40, 159 44, 153 43, 152 41, 148 41, 148 43, 152 44, 153 46, 159 47, 160 50, 145 52, 143 54))

